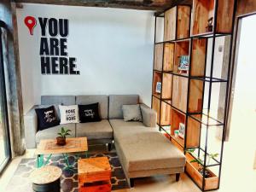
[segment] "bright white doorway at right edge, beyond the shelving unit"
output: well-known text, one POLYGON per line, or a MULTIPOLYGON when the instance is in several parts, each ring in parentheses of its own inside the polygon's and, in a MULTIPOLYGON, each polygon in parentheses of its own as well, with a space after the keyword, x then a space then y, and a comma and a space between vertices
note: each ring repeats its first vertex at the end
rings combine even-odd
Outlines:
POLYGON ((256 191, 256 15, 239 18, 223 191, 256 191), (233 175, 230 175, 233 174, 233 175), (229 186, 229 187, 226 187, 229 186))

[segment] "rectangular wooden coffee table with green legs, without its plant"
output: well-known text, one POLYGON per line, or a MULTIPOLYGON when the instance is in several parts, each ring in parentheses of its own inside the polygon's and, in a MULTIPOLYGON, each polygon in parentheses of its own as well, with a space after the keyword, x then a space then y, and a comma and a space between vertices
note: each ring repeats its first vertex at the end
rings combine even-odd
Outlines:
POLYGON ((72 169, 68 162, 68 153, 79 153, 84 152, 87 157, 88 144, 87 137, 76 137, 76 138, 67 138, 66 145, 59 146, 56 144, 55 139, 43 139, 38 144, 38 148, 35 154, 38 155, 38 167, 45 166, 49 163, 50 157, 52 154, 62 154, 64 160, 67 164, 67 169, 72 169), (44 162, 44 154, 49 154, 44 162))

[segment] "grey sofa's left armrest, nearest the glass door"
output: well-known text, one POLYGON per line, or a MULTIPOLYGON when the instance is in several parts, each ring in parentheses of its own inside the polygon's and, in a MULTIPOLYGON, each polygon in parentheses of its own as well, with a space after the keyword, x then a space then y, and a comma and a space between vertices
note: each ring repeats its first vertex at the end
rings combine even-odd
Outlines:
POLYGON ((25 142, 26 148, 36 148, 36 133, 38 131, 38 117, 35 108, 32 107, 29 112, 24 115, 25 142))

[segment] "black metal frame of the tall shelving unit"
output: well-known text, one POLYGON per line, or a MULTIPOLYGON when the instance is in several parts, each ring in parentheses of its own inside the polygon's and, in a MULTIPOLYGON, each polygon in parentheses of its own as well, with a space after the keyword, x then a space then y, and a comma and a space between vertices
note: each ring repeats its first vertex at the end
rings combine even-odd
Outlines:
MULTIPOLYGON (((191 179, 194 181, 194 183, 202 190, 202 191, 211 191, 211 190, 216 190, 216 189, 208 189, 206 190, 205 189, 205 185, 206 185, 206 169, 207 167, 212 167, 212 166, 219 166, 218 168, 218 188, 219 189, 219 183, 220 183, 220 177, 221 177, 221 170, 222 170, 222 159, 223 159, 223 149, 224 149, 224 137, 225 137, 225 129, 226 129, 226 125, 227 125, 227 117, 228 117, 228 100, 229 100, 229 91, 230 91, 230 68, 231 68, 231 50, 232 50, 232 42, 233 42, 233 33, 234 33, 234 20, 235 20, 235 15, 236 15, 236 6, 237 6, 237 1, 235 1, 234 3, 234 13, 232 15, 232 31, 231 32, 216 32, 216 26, 217 26, 217 12, 218 12, 218 0, 216 0, 216 5, 215 5, 215 9, 214 9, 214 22, 213 22, 213 32, 207 32, 207 33, 204 33, 204 34, 198 34, 198 35, 190 35, 189 38, 182 38, 182 39, 177 39, 177 32, 176 32, 176 39, 172 40, 172 41, 162 41, 162 42, 156 42, 155 41, 155 36, 156 36, 156 22, 157 22, 157 17, 164 17, 164 13, 165 11, 161 12, 161 13, 156 13, 154 16, 155 16, 155 26, 154 26, 154 44, 163 44, 165 45, 166 43, 177 43, 177 42, 181 42, 181 41, 190 41, 190 44, 189 44, 189 63, 191 64, 191 50, 192 50, 192 44, 193 44, 193 39, 195 38, 212 38, 212 56, 211 56, 211 67, 210 67, 210 75, 207 76, 206 75, 206 68, 207 68, 207 50, 206 50, 206 60, 205 60, 205 72, 204 72, 204 76, 192 76, 191 75, 191 70, 190 70, 190 67, 189 67, 189 74, 180 74, 180 73, 174 73, 172 71, 164 71, 163 68, 164 68, 164 48, 165 46, 163 46, 163 58, 162 58, 162 70, 161 71, 157 71, 157 70, 154 70, 154 62, 153 62, 153 73, 154 72, 159 72, 159 73, 162 73, 162 84, 163 84, 163 73, 170 73, 172 75, 177 75, 177 76, 180 76, 180 77, 183 77, 183 78, 188 78, 189 81, 188 81, 188 94, 187 94, 187 110, 186 112, 183 112, 182 110, 178 109, 178 108, 175 108, 173 105, 172 105, 172 102, 166 102, 165 99, 162 98, 162 92, 160 93, 160 97, 157 97, 157 96, 154 96, 156 97, 157 99, 160 100, 160 119, 159 119, 159 127, 160 127, 160 131, 165 131, 166 134, 169 136, 169 139, 173 139, 172 138, 172 135, 171 133, 168 133, 168 131, 166 131, 165 129, 165 126, 171 126, 172 125, 161 125, 161 103, 162 102, 165 102, 167 105, 170 105, 172 108, 176 109, 178 112, 180 113, 183 113, 183 115, 186 116, 186 119, 185 119, 185 137, 184 137, 184 146, 180 145, 180 143, 178 143, 182 148, 184 148, 184 154, 188 153, 188 152, 185 152, 187 148, 186 146, 186 141, 187 141, 187 131, 188 131, 188 119, 191 118, 191 119, 194 119, 195 121, 201 123, 201 126, 202 125, 205 125, 206 127, 206 137, 205 137, 205 147, 204 148, 201 148, 201 143, 199 143, 199 146, 197 147, 198 149, 198 154, 197 156, 192 154, 193 158, 195 159, 198 159, 201 154, 204 155, 204 159, 203 159, 203 163, 201 163, 201 166, 203 167, 203 180, 202 180, 202 187, 199 186, 197 183, 195 183, 194 179, 191 177, 191 179), (214 52, 215 52, 215 43, 216 43, 216 38, 219 38, 219 37, 224 37, 224 36, 230 36, 230 48, 229 48, 229 51, 230 51, 230 56, 229 56, 229 61, 228 61, 228 70, 227 70, 227 77, 226 79, 219 79, 219 78, 215 78, 213 77, 213 66, 214 66, 214 52), (201 113, 188 113, 188 108, 189 108, 189 89, 190 89, 190 84, 189 82, 191 80, 201 80, 203 81, 203 93, 202 93, 202 107, 201 107, 201 113), (209 83, 209 87, 208 87, 208 102, 207 102, 207 113, 203 113, 203 103, 204 103, 204 95, 205 95, 205 84, 206 83, 209 83), (212 100, 212 84, 215 84, 215 83, 219 83, 219 84, 226 84, 226 87, 225 87, 225 102, 224 102, 224 119, 223 121, 220 121, 218 119, 214 119, 210 116, 210 110, 211 110, 211 100, 212 100), (201 116, 201 119, 197 119, 195 118, 195 115, 200 115, 201 116), (207 120, 206 121, 203 121, 202 120, 202 117, 205 117, 207 120), (212 121, 214 121, 215 123, 212 124, 212 121), (222 139, 221 139, 221 148, 220 148, 220 156, 219 156, 219 160, 216 160, 213 158, 213 160, 215 161, 214 164, 211 164, 211 165, 207 165, 207 155, 209 155, 208 153, 208 129, 209 127, 211 126, 222 126, 222 139)), ((172 9, 172 8, 169 8, 169 9, 172 9)), ((190 16, 191 16, 191 13, 190 13, 190 16)), ((190 17, 191 18, 191 17, 190 17)), ((190 23, 189 23, 189 30, 190 30, 190 23)), ((164 24, 164 27, 165 27, 165 24, 164 24)), ((176 27, 176 30, 177 30, 177 27, 176 27)), ((208 42, 208 40, 207 40, 208 42)), ((208 46, 208 44, 207 44, 208 46)), ((154 55, 155 56, 155 55, 154 55)), ((162 86, 161 84, 161 86, 162 86)), ((173 84, 173 81, 172 81, 172 84, 173 84)), ((172 91, 172 90, 171 90, 172 91)), ((172 100, 170 100, 172 101, 172 100)), ((200 127, 200 138, 199 140, 201 141, 201 127, 200 127)), ((190 177, 190 176, 189 176, 190 177)))

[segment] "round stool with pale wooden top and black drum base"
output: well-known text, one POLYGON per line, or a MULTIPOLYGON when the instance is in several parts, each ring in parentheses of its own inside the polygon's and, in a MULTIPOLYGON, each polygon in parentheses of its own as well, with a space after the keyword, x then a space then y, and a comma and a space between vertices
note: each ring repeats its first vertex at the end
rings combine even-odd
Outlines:
POLYGON ((30 175, 32 189, 36 192, 60 192, 61 168, 43 166, 34 170, 30 175))

